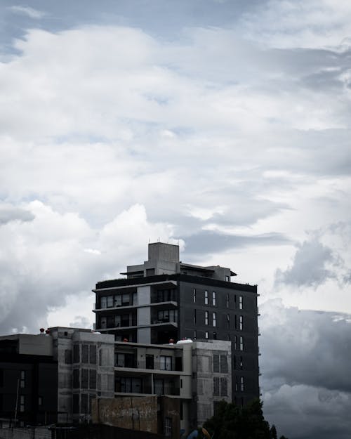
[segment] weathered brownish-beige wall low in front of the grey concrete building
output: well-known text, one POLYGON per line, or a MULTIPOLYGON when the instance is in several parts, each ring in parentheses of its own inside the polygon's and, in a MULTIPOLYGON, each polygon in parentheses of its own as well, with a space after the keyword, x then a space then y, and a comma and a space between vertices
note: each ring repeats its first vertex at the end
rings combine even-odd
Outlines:
POLYGON ((100 398, 91 414, 94 424, 157 433, 157 396, 100 398))

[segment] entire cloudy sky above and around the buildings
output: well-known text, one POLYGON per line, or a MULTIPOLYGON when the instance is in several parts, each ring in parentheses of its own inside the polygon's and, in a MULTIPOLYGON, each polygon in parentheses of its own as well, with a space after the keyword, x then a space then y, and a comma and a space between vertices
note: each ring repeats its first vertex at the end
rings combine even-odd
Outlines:
POLYGON ((0 333, 178 243, 258 284, 265 417, 351 431, 351 2, 0 3, 0 333))

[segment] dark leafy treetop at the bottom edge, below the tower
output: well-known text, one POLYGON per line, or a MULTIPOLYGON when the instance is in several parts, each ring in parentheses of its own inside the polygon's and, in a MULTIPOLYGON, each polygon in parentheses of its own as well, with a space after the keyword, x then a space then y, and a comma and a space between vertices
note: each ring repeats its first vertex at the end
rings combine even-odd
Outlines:
POLYGON ((211 436, 214 434, 214 439, 277 439, 277 429, 270 428, 265 421, 262 406, 260 400, 253 400, 242 408, 221 401, 204 428, 211 436))

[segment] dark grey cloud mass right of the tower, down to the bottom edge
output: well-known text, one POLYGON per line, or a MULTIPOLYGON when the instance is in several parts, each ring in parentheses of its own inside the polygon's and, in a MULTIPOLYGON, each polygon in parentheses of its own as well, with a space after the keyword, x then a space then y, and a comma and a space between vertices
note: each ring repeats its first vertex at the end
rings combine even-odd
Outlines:
POLYGON ((260 306, 260 369, 265 417, 298 439, 347 438, 351 315, 260 306))

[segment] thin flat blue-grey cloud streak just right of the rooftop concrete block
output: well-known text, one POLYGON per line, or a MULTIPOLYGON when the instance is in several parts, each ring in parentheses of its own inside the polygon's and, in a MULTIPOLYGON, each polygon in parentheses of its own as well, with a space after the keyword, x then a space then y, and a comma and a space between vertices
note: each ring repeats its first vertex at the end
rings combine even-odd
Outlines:
POLYGON ((225 235, 224 233, 202 230, 185 238, 185 255, 206 255, 232 248, 243 248, 253 245, 289 244, 289 238, 280 233, 263 235, 225 235))

